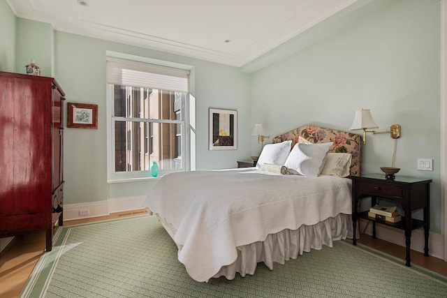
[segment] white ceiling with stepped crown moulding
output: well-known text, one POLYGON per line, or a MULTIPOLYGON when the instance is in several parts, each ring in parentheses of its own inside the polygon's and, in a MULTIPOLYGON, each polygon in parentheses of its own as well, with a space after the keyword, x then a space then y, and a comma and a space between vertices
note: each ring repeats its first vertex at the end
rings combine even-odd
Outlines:
POLYGON ((358 0, 6 1, 57 31, 244 66, 358 0))

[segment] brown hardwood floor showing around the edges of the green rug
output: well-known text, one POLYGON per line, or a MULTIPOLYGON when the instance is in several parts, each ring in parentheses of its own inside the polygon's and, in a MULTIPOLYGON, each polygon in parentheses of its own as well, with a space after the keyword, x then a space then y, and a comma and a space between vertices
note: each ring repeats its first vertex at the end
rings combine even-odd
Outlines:
MULTIPOLYGON (((85 218, 76 221, 66 221, 64 225, 75 225, 78 223, 89 223, 103 221, 105 219, 121 218, 123 216, 134 216, 144 214, 144 209, 119 212, 109 216, 96 218, 85 218)), ((397 258, 405 258, 405 248, 396 244, 391 244, 381 239, 372 239, 367 234, 361 234, 358 243, 374 248, 383 253, 388 253, 397 258)), ((29 274, 34 269, 38 259, 45 250, 45 232, 22 235, 15 237, 14 243, 0 255, 0 297, 18 297, 22 288, 29 278, 29 274)), ((411 262, 420 267, 425 267, 434 272, 447 276, 447 262, 432 256, 425 257, 423 253, 411 251, 411 262)))

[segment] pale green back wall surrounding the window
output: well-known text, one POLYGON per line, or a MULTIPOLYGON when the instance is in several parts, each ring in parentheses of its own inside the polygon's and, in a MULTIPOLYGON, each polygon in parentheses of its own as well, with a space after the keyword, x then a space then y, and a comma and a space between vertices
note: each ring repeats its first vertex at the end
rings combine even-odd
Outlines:
POLYGON ((48 24, 21 18, 17 18, 17 36, 20 38, 17 37, 16 72, 22 72, 22 64, 26 65, 29 57, 38 57, 34 59, 42 75, 50 76, 54 68, 52 76, 64 89, 66 102, 98 105, 97 130, 65 128, 65 204, 146 195, 154 183, 154 180, 107 182, 106 51, 193 66, 192 95, 196 98, 196 165, 193 167, 197 170, 235 167, 237 160, 249 156, 249 139, 244 137, 238 140, 237 150, 209 151, 207 145, 210 107, 237 110, 238 133, 242 136, 251 133, 249 75, 238 68, 72 33, 52 32, 48 24), (33 48, 26 47, 31 36, 36 44, 33 48))

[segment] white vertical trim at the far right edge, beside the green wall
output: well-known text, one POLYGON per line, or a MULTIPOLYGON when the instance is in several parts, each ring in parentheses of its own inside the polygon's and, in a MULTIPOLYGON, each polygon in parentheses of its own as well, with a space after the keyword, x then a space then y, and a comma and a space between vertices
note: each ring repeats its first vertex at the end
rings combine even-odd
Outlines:
POLYGON ((447 261, 447 3, 441 1, 441 234, 444 237, 444 260, 447 261))

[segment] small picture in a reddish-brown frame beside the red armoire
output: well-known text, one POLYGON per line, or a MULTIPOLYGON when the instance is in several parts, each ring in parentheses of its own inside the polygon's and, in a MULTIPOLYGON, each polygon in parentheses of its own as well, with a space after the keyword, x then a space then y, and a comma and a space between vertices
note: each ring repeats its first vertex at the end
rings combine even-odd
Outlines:
POLYGON ((98 105, 67 103, 67 126, 73 128, 98 128, 98 105))

